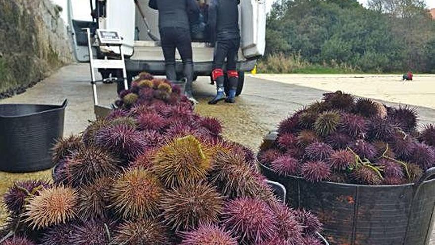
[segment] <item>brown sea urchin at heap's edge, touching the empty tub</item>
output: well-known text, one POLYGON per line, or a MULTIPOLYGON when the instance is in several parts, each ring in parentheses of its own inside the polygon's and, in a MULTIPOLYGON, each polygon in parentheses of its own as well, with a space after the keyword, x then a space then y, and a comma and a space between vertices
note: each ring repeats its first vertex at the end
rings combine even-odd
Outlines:
POLYGON ((82 137, 80 136, 71 135, 67 138, 57 140, 51 150, 53 152, 53 163, 58 164, 61 160, 70 156, 74 151, 80 149, 82 146, 82 137))

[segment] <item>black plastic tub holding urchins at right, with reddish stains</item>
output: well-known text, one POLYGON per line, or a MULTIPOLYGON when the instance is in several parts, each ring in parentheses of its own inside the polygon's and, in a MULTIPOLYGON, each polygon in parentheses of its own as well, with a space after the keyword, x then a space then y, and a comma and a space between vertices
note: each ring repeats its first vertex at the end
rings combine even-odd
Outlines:
POLYGON ((331 245, 428 245, 435 206, 435 168, 414 184, 365 186, 312 183, 279 176, 260 164, 263 174, 284 185, 287 203, 315 213, 331 245))

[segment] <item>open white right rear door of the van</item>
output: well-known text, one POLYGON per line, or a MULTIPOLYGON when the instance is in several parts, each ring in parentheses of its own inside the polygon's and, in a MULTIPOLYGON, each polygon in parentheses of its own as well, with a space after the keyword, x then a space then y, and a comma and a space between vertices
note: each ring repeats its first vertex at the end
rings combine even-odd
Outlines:
POLYGON ((241 0, 240 10, 243 56, 260 57, 266 49, 265 0, 241 0))

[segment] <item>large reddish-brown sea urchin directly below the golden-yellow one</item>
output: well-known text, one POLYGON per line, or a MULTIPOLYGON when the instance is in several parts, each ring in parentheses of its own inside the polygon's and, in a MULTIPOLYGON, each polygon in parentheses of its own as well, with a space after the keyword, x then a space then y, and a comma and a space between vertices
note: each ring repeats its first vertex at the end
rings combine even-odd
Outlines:
POLYGON ((223 197, 209 184, 184 184, 168 191, 160 206, 162 217, 175 231, 215 223, 222 214, 223 197))

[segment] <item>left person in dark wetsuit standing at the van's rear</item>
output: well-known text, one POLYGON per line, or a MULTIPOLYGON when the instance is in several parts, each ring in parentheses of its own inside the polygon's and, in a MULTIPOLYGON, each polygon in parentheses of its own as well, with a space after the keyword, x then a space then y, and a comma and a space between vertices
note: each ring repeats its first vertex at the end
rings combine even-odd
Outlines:
POLYGON ((159 11, 159 32, 165 57, 166 78, 176 80, 175 48, 183 60, 186 77, 185 94, 193 99, 193 58, 189 17, 199 18, 199 6, 195 0, 150 0, 149 7, 159 11))

